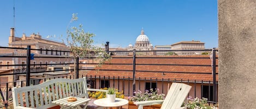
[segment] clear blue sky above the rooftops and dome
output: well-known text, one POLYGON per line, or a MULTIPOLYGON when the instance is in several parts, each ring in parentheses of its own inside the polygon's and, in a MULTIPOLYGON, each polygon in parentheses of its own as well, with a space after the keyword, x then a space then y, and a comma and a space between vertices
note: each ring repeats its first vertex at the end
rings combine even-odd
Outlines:
MULTIPOLYGON (((0 46, 8 46, 13 5, 0 1, 0 46)), ((218 47, 217 0, 15 0, 15 35, 66 36, 73 13, 79 21, 71 26, 84 24, 96 34, 96 44, 127 47, 144 28, 153 46, 199 40, 206 48, 218 47)))

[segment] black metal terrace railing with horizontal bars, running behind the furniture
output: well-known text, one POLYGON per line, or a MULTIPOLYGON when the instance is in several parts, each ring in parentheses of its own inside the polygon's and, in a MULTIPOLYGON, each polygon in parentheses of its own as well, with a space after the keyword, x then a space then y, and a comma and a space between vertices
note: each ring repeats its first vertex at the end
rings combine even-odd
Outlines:
MULTIPOLYGON (((120 57, 112 57, 114 58, 119 58, 119 59, 132 59, 132 63, 105 63, 105 65, 132 65, 132 70, 127 70, 127 69, 100 69, 100 70, 118 70, 118 71, 127 71, 127 72, 132 72, 133 75, 130 76, 108 76, 108 75, 81 75, 79 74, 79 70, 94 70, 94 69, 86 69, 86 68, 80 68, 80 65, 97 65, 97 62, 87 62, 87 63, 79 63, 79 58, 76 58, 76 70, 75 73, 70 74, 68 76, 58 76, 58 77, 53 77, 53 78, 42 78, 42 79, 31 79, 31 74, 39 74, 39 73, 45 73, 45 72, 57 72, 57 71, 71 71, 73 72, 74 69, 62 69, 62 70, 43 70, 43 71, 36 71, 36 72, 31 72, 31 69, 33 70, 33 68, 43 68, 41 66, 55 66, 55 65, 74 65, 74 63, 72 62, 67 62, 67 63, 40 63, 40 64, 34 64, 34 63, 30 63, 31 59, 34 57, 35 59, 44 59, 44 58, 49 58, 49 59, 72 59, 74 61, 74 57, 71 57, 69 55, 67 55, 68 53, 70 53, 70 51, 63 51, 63 50, 54 50, 54 52, 63 52, 65 55, 52 55, 52 53, 48 54, 48 51, 53 52, 53 50, 48 50, 48 49, 31 49, 31 46, 27 46, 27 48, 13 48, 13 47, 0 47, 2 49, 19 49, 19 50, 26 50, 26 56, 25 55, 19 55, 16 53, 13 54, 4 54, 1 55, 0 53, 0 61, 2 58, 19 58, 19 59, 26 59, 27 63, 23 63, 23 64, 15 64, 14 65, 4 65, 4 63, 2 63, 2 65, 0 65, 0 67, 14 67, 10 70, 17 70, 20 68, 23 68, 23 70, 26 69, 26 72, 14 72, 14 73, 0 73, 0 79, 3 76, 18 76, 18 75, 26 75, 26 80, 18 80, 15 79, 13 82, 1 82, 0 80, 0 97, 3 100, 3 105, 5 107, 8 107, 8 103, 11 102, 11 98, 8 96, 10 94, 10 88, 11 87, 16 87, 16 83, 20 82, 20 87, 23 87, 24 85, 29 86, 29 85, 36 85, 38 84, 35 81, 46 81, 49 79, 55 79, 55 78, 69 78, 69 79, 74 79, 74 78, 79 78, 79 76, 83 77, 86 76, 88 83, 90 84, 90 86, 93 86, 92 88, 102 88, 102 87, 109 87, 110 85, 114 86, 114 87, 118 87, 118 91, 124 91, 125 95, 133 95, 133 91, 136 90, 136 85, 138 85, 138 89, 142 89, 143 84, 145 84, 145 82, 147 81, 150 84, 150 88, 152 87, 152 83, 153 82, 157 82, 156 86, 160 87, 162 89, 160 89, 160 91, 162 91, 162 93, 164 93, 164 85, 165 84, 170 84, 171 82, 183 82, 186 84, 190 84, 190 85, 194 85, 194 87, 196 87, 197 85, 201 86, 201 97, 203 95, 203 89, 205 89, 205 87, 207 87, 207 91, 209 91, 209 93, 211 93, 212 91, 212 97, 211 94, 209 94, 208 98, 212 98, 212 101, 209 100, 209 102, 213 102, 213 104, 215 104, 217 102, 217 91, 218 91, 218 82, 216 81, 216 75, 218 73, 216 73, 216 67, 218 65, 216 65, 216 60, 218 59, 218 57, 216 57, 217 54, 217 49, 213 48, 213 49, 204 49, 204 50, 146 50, 146 51, 136 51, 136 50, 132 50, 132 51, 125 51, 125 50, 120 50, 120 51, 109 51, 109 43, 106 44, 105 48, 106 48, 106 52, 108 52, 109 54, 116 54, 116 53, 123 53, 125 52, 125 54, 129 55, 129 52, 132 54, 131 56, 120 56, 120 57), (46 51, 46 55, 45 54, 37 54, 33 57, 31 57, 32 53, 31 50, 38 50, 40 53, 41 51, 46 51), (138 56, 139 54, 137 53, 142 53, 142 52, 146 52, 146 55, 148 55, 149 52, 192 52, 192 51, 203 51, 203 52, 212 52, 212 64, 211 65, 186 65, 186 64, 153 64, 153 63, 136 63, 136 59, 151 59, 151 58, 162 58, 162 59, 166 59, 166 58, 177 58, 177 59, 183 59, 183 58, 206 58, 206 57, 148 57, 148 56, 138 56), (126 53, 127 52, 127 53, 126 53), (149 66, 208 66, 208 67, 212 67, 212 72, 204 72, 200 74, 210 74, 212 75, 213 80, 212 81, 203 81, 203 80, 183 80, 183 79, 164 79, 164 78, 136 78, 135 77, 135 73, 136 72, 154 72, 154 73, 183 73, 183 74, 197 74, 198 72, 174 72, 174 71, 158 71, 158 70, 136 70, 136 66, 137 65, 149 65, 149 66), (26 66, 26 67, 25 67, 26 66), (103 84, 101 84, 100 82, 96 81, 101 81, 103 80, 103 84), (109 81, 108 84, 106 83, 106 81, 109 81), (112 82, 111 82, 112 81, 112 82), (115 82, 116 81, 116 82, 115 82), (31 84, 31 82, 33 84, 31 84), (138 82, 138 84, 136 84, 136 82, 138 82), (25 84, 26 83, 26 84, 25 84), (12 85, 11 85, 12 84, 12 85), (106 86, 108 85, 108 86, 106 86), (132 85, 132 89, 130 89, 130 85, 132 85), (96 87, 97 86, 97 87, 96 87), (5 91, 3 91, 3 88, 1 89, 1 87, 6 87, 5 91), (122 89, 121 89, 122 87, 122 89), (212 89, 211 89, 212 87, 212 89)), ((140 54, 141 55, 141 54, 140 54)), ((142 54, 143 55, 143 54, 142 54)), ((85 57, 86 58, 86 57, 85 57)), ((95 57, 91 57, 92 59, 95 57)), ((80 58, 82 59, 82 58, 80 58)), ((209 59, 209 58, 207 58, 209 59)), ((198 93, 197 93, 197 88, 194 88, 194 97, 197 97, 198 93)), ((0 107, 3 106, 0 104, 0 107)))

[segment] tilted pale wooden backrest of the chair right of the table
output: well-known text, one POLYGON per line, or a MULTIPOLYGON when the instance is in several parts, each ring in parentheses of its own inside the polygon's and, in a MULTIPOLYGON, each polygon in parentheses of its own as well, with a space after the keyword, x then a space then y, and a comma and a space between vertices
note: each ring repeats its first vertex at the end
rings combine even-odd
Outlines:
POLYGON ((161 109, 174 109, 181 107, 183 101, 187 98, 187 95, 191 89, 191 86, 181 83, 172 83, 161 109))

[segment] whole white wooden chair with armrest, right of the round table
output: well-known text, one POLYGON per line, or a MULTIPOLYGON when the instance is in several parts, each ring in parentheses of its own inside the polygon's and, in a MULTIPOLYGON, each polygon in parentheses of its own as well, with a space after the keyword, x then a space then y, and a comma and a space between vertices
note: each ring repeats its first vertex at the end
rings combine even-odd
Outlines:
POLYGON ((149 100, 134 102, 138 105, 139 109, 143 109, 143 106, 162 104, 161 109, 177 109, 185 108, 181 107, 183 101, 187 98, 187 95, 191 89, 191 86, 181 83, 172 83, 164 100, 149 100))

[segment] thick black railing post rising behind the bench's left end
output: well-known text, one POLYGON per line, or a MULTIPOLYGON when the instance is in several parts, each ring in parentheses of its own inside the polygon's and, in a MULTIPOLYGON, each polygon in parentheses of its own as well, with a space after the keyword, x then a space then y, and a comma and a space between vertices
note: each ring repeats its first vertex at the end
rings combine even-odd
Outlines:
POLYGON ((31 55, 31 46, 27 46, 26 86, 30 86, 30 55, 31 55))

